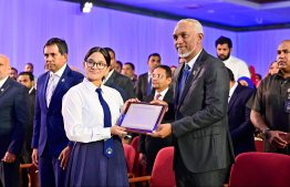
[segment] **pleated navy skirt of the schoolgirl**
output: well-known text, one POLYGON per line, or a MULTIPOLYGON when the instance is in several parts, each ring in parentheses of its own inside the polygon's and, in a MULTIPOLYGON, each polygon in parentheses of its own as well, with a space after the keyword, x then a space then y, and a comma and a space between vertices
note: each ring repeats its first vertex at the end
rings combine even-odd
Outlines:
POLYGON ((65 186, 128 186, 127 165, 118 136, 114 155, 104 155, 104 141, 75 143, 68 165, 65 186))

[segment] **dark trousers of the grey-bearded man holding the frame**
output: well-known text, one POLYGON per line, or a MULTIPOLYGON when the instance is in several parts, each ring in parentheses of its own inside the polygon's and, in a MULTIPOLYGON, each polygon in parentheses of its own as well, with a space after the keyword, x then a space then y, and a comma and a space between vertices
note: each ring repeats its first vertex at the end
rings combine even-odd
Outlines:
POLYGON ((176 179, 177 187, 187 187, 187 186, 224 187, 227 172, 228 172, 228 167, 219 170, 211 170, 205 173, 191 173, 186 168, 179 152, 178 150, 176 152, 175 179, 176 179))

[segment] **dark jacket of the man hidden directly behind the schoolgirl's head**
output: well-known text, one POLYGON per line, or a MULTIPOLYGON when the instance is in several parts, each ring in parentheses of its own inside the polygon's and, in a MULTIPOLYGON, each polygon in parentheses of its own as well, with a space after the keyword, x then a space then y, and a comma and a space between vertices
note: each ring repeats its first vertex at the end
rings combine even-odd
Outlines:
MULTIPOLYGON (((130 77, 120 74, 115 70, 110 76, 108 80, 111 80, 114 84, 116 84, 118 87, 123 89, 126 92, 126 97, 128 98, 134 98, 134 86, 130 77)), ((107 83, 105 83, 107 85, 107 83)))

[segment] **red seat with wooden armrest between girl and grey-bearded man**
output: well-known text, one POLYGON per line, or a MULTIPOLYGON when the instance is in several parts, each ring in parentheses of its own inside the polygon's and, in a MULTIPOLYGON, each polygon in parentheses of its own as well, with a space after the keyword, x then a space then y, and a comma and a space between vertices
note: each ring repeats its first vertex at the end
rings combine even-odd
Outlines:
POLYGON ((160 149, 156 156, 152 175, 130 178, 131 186, 136 183, 148 181, 152 187, 157 186, 176 186, 173 170, 174 147, 160 149))

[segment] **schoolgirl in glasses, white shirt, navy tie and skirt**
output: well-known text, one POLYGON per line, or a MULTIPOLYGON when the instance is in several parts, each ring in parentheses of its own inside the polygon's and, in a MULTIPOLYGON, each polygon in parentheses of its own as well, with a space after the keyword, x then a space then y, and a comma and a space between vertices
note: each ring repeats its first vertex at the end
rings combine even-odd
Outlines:
POLYGON ((89 50, 86 77, 63 97, 64 128, 74 142, 65 186, 128 186, 120 139, 126 132, 116 125, 124 103, 116 90, 102 84, 110 61, 106 50, 89 50))

